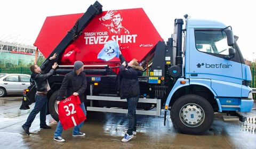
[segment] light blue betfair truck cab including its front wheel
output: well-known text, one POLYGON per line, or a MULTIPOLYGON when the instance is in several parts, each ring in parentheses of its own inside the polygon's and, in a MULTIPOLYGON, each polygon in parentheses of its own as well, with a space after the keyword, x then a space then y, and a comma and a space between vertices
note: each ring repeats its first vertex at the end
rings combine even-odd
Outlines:
MULTIPOLYGON (((182 25, 182 20, 176 22, 175 26, 182 25)), ((172 122, 181 133, 206 131, 213 112, 252 109, 250 67, 231 29, 217 21, 186 18, 185 29, 177 30, 177 40, 183 37, 183 50, 177 52, 182 53, 184 64, 166 99, 165 110, 171 106, 172 122)))

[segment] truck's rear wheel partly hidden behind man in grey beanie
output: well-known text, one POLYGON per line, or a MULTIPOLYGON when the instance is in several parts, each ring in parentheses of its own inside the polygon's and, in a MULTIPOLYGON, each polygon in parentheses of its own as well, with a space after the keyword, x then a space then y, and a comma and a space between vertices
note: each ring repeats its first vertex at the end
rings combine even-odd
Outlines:
POLYGON ((55 91, 49 100, 49 112, 52 115, 52 118, 55 121, 59 121, 59 114, 58 114, 58 106, 57 106, 57 97, 59 94, 59 90, 55 91))

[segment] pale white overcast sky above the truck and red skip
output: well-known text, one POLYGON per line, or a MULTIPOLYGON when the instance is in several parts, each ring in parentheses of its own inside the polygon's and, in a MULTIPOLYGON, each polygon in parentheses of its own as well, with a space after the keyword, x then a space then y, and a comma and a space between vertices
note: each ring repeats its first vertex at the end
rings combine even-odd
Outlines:
MULTIPOLYGON (((0 40, 33 45, 46 16, 84 13, 95 0, 8 0, 1 1, 0 40)), ((176 18, 188 14, 193 19, 220 21, 233 28, 245 59, 254 61, 256 30, 253 28, 253 1, 230 0, 99 0, 103 11, 143 8, 161 37, 166 41, 176 18)))

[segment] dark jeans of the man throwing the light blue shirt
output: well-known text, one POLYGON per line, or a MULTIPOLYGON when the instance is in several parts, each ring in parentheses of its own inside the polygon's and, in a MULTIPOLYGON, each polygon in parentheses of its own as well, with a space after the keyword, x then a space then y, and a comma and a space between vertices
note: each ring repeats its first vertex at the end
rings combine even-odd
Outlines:
POLYGON ((136 117, 136 109, 137 109, 137 103, 139 101, 139 97, 131 97, 127 98, 127 104, 128 104, 128 130, 127 134, 132 135, 132 131, 136 131, 136 125, 137 125, 137 117, 136 117))

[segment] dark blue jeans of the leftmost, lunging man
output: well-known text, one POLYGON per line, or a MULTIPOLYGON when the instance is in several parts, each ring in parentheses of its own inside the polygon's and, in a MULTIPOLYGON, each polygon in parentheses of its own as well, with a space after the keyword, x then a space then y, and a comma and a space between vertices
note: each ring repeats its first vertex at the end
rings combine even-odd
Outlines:
POLYGON ((35 106, 34 109, 28 115, 28 119, 23 125, 25 128, 29 128, 31 123, 34 121, 36 114, 40 112, 40 127, 46 125, 46 112, 47 112, 47 96, 35 95, 35 106))

